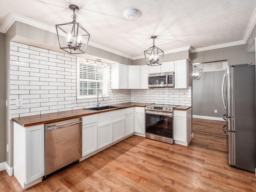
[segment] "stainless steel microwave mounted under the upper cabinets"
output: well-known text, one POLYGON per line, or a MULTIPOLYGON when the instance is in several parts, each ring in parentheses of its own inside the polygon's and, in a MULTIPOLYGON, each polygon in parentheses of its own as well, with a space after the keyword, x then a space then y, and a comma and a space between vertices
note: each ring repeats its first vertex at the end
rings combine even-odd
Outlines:
POLYGON ((148 74, 148 87, 174 87, 174 72, 148 74))

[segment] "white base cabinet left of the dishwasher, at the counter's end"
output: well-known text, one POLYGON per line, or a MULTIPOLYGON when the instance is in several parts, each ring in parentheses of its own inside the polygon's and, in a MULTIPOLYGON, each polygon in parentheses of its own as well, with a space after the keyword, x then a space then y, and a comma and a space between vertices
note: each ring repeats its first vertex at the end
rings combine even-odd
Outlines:
POLYGON ((44 124, 23 127, 14 123, 14 176, 23 189, 42 181, 45 174, 44 124))

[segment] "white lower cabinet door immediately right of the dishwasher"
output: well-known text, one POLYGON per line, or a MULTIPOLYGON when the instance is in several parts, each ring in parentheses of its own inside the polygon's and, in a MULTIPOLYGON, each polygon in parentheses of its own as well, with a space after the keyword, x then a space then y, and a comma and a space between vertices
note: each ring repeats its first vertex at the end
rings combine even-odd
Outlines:
POLYGON ((97 123, 83 125, 82 156, 97 150, 97 123))

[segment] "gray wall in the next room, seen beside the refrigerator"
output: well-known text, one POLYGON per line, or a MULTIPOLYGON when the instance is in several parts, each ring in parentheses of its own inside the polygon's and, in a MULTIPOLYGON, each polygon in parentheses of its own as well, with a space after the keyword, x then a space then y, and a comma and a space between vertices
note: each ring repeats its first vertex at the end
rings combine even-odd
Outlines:
POLYGON ((225 114, 221 92, 224 73, 224 70, 202 72, 200 80, 193 80, 193 115, 221 118, 225 114))

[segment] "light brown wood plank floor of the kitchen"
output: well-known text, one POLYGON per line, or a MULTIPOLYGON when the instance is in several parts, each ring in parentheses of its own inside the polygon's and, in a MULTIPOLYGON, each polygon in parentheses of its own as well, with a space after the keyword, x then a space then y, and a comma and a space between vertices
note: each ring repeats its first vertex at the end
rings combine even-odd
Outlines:
MULTIPOLYGON (((255 174, 228 165, 222 125, 193 119, 194 139, 188 147, 132 136, 26 191, 255 192, 255 174)), ((22 188, 2 171, 0 191, 22 188)))

